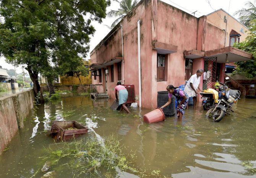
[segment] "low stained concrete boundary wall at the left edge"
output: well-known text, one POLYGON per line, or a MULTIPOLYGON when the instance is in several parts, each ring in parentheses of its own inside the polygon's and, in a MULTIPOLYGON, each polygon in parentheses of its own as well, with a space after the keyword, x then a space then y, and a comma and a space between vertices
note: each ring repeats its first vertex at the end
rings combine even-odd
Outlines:
POLYGON ((0 153, 33 109, 34 92, 20 92, 0 98, 0 153))

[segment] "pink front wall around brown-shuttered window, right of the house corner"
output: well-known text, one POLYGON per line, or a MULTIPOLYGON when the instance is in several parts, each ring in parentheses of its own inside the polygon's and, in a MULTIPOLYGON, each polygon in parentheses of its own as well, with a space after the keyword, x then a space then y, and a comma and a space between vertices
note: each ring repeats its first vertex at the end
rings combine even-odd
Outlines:
MULTIPOLYGON (((157 41, 178 46, 178 51, 168 57, 167 81, 157 81, 157 91, 165 91, 169 84, 180 86, 185 83, 183 53, 196 49, 198 18, 162 1, 157 2, 157 15, 157 41)), ((154 66, 156 71, 157 58, 154 66)))

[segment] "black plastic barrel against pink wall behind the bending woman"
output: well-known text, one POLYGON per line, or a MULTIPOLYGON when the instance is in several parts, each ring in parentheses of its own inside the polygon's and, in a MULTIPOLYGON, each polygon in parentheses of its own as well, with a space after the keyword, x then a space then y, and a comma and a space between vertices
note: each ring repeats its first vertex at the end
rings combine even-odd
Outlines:
MULTIPOLYGON (((167 91, 157 92, 157 107, 160 108, 169 100, 167 91)), ((175 96, 172 96, 172 102, 167 107, 163 108, 165 116, 175 115, 175 96)))

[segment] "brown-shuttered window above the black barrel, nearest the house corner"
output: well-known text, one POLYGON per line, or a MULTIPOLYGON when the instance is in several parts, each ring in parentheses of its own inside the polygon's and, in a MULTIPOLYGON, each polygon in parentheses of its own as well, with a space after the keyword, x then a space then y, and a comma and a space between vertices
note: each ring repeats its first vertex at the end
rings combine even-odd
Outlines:
POLYGON ((157 81, 167 81, 168 55, 157 54, 157 81))

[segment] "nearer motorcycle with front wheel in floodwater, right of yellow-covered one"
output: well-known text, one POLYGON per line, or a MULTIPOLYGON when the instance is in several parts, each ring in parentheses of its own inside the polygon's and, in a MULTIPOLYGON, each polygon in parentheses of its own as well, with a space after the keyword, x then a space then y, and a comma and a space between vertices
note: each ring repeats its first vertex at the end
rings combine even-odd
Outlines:
POLYGON ((224 115, 230 115, 230 112, 234 112, 233 106, 237 104, 238 99, 240 99, 241 92, 228 88, 226 86, 227 82, 225 82, 225 84, 219 82, 221 86, 219 86, 218 103, 209 108, 206 113, 206 118, 212 118, 214 121, 219 122, 224 115))

